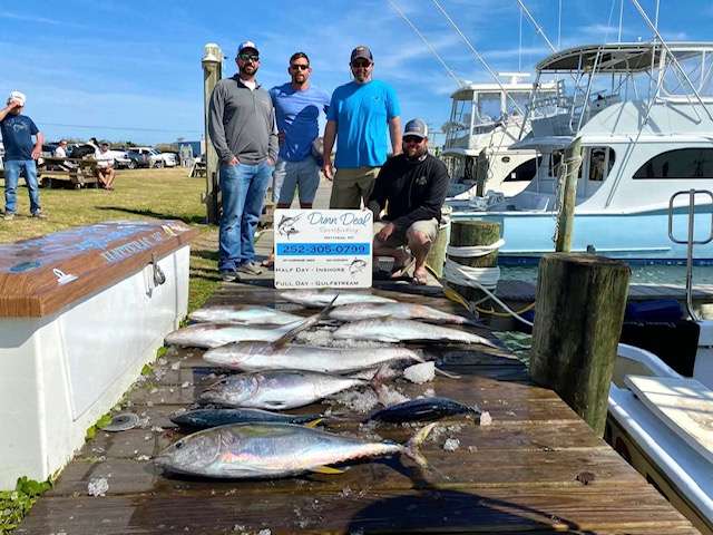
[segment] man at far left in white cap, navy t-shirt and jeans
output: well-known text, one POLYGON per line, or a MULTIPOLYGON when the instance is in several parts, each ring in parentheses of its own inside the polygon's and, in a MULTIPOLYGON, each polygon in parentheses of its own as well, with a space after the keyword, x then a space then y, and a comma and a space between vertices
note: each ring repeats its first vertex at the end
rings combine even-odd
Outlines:
POLYGON ((4 221, 14 220, 20 172, 25 172, 32 217, 47 217, 40 208, 35 162, 42 153, 43 139, 32 119, 22 115, 26 100, 27 97, 23 94, 12 91, 8 97, 8 105, 0 110, 0 133, 4 144, 4 221), (32 136, 35 136, 35 143, 32 143, 32 136))

